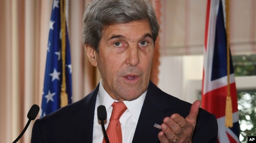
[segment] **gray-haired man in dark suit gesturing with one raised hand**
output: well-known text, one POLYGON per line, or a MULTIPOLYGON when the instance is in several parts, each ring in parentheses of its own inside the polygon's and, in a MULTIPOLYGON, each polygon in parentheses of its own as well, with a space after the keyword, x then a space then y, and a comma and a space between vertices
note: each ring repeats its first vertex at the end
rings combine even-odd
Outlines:
POLYGON ((123 143, 217 142, 217 120, 199 108, 200 101, 191 105, 149 79, 159 24, 147 0, 93 1, 82 32, 101 81, 85 98, 37 120, 31 143, 101 143, 97 107, 107 109, 107 128, 114 102, 127 107, 119 119, 123 143))

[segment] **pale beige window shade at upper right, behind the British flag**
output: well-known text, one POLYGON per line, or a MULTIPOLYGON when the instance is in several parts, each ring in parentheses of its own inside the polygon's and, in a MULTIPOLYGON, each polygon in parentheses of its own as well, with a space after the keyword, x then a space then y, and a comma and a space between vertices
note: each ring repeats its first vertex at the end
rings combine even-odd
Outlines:
MULTIPOLYGON (((203 55, 207 0, 161 1, 162 56, 203 55)), ((256 1, 230 0, 230 50, 256 53, 256 1)))

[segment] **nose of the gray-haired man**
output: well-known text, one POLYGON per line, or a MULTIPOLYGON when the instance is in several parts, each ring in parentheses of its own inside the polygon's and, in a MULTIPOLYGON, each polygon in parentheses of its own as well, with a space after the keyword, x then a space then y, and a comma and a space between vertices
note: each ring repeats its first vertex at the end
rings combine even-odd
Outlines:
POLYGON ((136 66, 140 63, 139 53, 137 45, 130 47, 127 52, 126 64, 136 66))

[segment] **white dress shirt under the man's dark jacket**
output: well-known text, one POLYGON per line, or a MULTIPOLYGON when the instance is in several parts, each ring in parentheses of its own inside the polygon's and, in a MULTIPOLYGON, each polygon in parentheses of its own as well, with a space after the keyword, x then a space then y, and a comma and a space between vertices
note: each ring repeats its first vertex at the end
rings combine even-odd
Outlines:
MULTIPOLYGON (((138 123, 138 118, 141 113, 141 108, 144 103, 146 92, 144 92, 139 98, 132 101, 123 101, 127 109, 120 117, 123 143, 131 143, 133 135, 138 123)), ((98 120, 97 107, 104 105, 107 110, 107 120, 104 121, 105 129, 109 124, 110 116, 112 113, 112 103, 118 102, 110 97, 110 95, 104 90, 102 81, 99 82, 99 92, 96 99, 96 105, 94 110, 94 125, 93 125, 93 143, 102 143, 104 134, 101 127, 101 121, 98 120)))

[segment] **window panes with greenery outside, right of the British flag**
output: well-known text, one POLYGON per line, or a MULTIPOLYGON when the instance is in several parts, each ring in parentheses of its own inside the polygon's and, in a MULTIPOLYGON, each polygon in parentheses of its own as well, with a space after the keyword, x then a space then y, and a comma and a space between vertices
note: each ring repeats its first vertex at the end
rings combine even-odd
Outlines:
MULTIPOLYGON (((232 59, 236 77, 256 75, 256 55, 235 55, 232 59)), ((256 135, 256 87, 251 87, 255 82, 246 80, 244 88, 237 87, 241 143, 247 143, 247 136, 256 135)))

